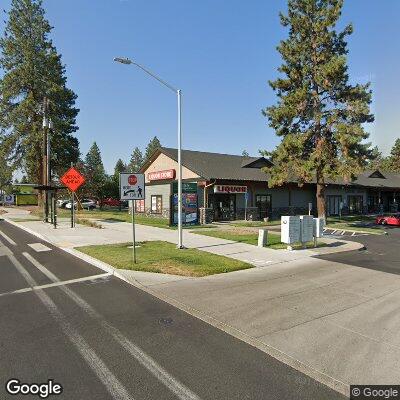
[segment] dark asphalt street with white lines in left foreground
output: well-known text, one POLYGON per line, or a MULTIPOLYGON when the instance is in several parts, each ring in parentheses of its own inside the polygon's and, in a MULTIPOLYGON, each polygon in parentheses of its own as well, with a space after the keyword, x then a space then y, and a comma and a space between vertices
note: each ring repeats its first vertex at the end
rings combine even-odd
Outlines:
POLYGON ((344 398, 1 220, 0 366, 1 399, 39 398, 7 394, 11 378, 68 400, 344 398))

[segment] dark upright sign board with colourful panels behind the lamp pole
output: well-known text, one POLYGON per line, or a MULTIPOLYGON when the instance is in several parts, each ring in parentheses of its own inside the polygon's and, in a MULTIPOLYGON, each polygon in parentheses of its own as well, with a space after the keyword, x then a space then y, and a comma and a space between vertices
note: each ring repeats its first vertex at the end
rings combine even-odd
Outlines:
MULTIPOLYGON (((174 182, 172 195, 172 225, 178 224, 178 185, 174 182)), ((182 223, 198 224, 197 183, 184 182, 182 185, 182 223)))

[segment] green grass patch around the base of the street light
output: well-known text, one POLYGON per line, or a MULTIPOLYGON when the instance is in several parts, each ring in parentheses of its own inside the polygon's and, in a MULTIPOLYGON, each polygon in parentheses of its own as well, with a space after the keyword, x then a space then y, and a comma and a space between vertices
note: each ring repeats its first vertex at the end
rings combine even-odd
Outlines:
POLYGON ((77 250, 115 268, 183 276, 206 276, 252 268, 228 257, 197 249, 179 250, 167 242, 142 242, 137 246, 137 264, 132 261, 132 243, 78 247, 77 250))

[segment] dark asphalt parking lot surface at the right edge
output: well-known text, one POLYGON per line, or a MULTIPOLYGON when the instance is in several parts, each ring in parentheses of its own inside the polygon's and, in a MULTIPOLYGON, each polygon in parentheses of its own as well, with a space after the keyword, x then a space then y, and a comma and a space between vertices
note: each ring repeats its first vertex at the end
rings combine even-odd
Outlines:
POLYGON ((384 230, 387 235, 346 237, 346 240, 362 243, 365 250, 327 254, 318 258, 400 274, 400 227, 385 227, 384 230))

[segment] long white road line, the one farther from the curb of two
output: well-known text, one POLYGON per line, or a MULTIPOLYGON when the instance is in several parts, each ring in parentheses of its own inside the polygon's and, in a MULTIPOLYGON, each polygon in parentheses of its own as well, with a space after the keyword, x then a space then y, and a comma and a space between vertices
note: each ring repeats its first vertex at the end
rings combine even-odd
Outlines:
MULTIPOLYGON (((21 265, 21 263, 14 257, 9 256, 11 262, 15 265, 17 270, 23 275, 25 280, 30 286, 37 286, 35 280, 30 276, 28 271, 21 265)), ((44 267, 43 267, 44 268, 44 267)), ((68 337, 71 343, 77 348, 83 359, 97 375, 106 389, 110 392, 114 399, 118 400, 133 400, 133 397, 127 392, 122 383, 117 377, 108 369, 101 358, 89 346, 86 340, 69 324, 64 314, 62 314, 53 300, 43 290, 35 291, 39 299, 49 310, 50 314, 59 323, 63 333, 68 337)))

